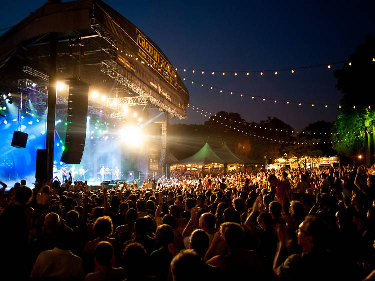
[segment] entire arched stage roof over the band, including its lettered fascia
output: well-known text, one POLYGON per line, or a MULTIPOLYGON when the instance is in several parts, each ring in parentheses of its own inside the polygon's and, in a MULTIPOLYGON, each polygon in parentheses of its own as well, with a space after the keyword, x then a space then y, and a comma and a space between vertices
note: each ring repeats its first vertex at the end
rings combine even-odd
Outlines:
MULTIPOLYGON (((49 0, 4 33, 0 91, 32 91, 45 103, 53 33, 58 38, 57 79, 79 77, 105 94, 104 113, 141 105, 186 117, 189 93, 175 67, 146 34, 101 0, 49 0)), ((66 105, 65 98, 58 95, 57 101, 66 105)), ((94 108, 103 102, 89 104, 94 108)))

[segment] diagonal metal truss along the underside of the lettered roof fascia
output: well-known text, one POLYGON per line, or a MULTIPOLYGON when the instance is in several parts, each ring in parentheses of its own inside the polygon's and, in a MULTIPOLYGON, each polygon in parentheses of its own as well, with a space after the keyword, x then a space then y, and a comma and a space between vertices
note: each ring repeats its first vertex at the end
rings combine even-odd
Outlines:
POLYGON ((119 71, 118 71, 117 62, 115 62, 113 60, 107 60, 107 61, 102 61, 100 64, 101 64, 101 67, 100 67, 101 72, 108 75, 113 80, 117 81, 119 84, 129 88, 131 91, 137 93, 139 95, 139 97, 148 100, 147 104, 155 105, 155 106, 163 109, 164 111, 169 112, 172 118, 178 117, 180 119, 183 119, 183 118, 186 117, 186 116, 182 116, 181 114, 179 114, 177 111, 173 110, 171 107, 169 107, 168 105, 166 105, 162 101, 154 98, 150 93, 144 91, 138 85, 134 84, 129 79, 127 79, 122 74, 120 74, 119 71))

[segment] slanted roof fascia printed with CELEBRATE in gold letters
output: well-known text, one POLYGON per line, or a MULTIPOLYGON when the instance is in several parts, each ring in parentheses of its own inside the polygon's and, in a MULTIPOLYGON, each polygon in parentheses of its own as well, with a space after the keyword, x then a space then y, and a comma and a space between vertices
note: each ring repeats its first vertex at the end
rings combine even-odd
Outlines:
POLYGON ((102 1, 95 2, 97 23, 117 43, 118 72, 185 116, 189 93, 161 49, 130 21, 102 1), (136 59, 138 58, 138 59, 136 59))

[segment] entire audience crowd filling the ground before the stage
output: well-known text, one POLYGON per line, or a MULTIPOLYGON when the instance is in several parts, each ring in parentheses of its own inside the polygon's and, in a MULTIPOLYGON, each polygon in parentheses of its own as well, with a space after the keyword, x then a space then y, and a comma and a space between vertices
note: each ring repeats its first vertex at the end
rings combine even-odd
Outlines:
POLYGON ((0 181, 1 280, 375 279, 374 166, 70 180, 0 181))

